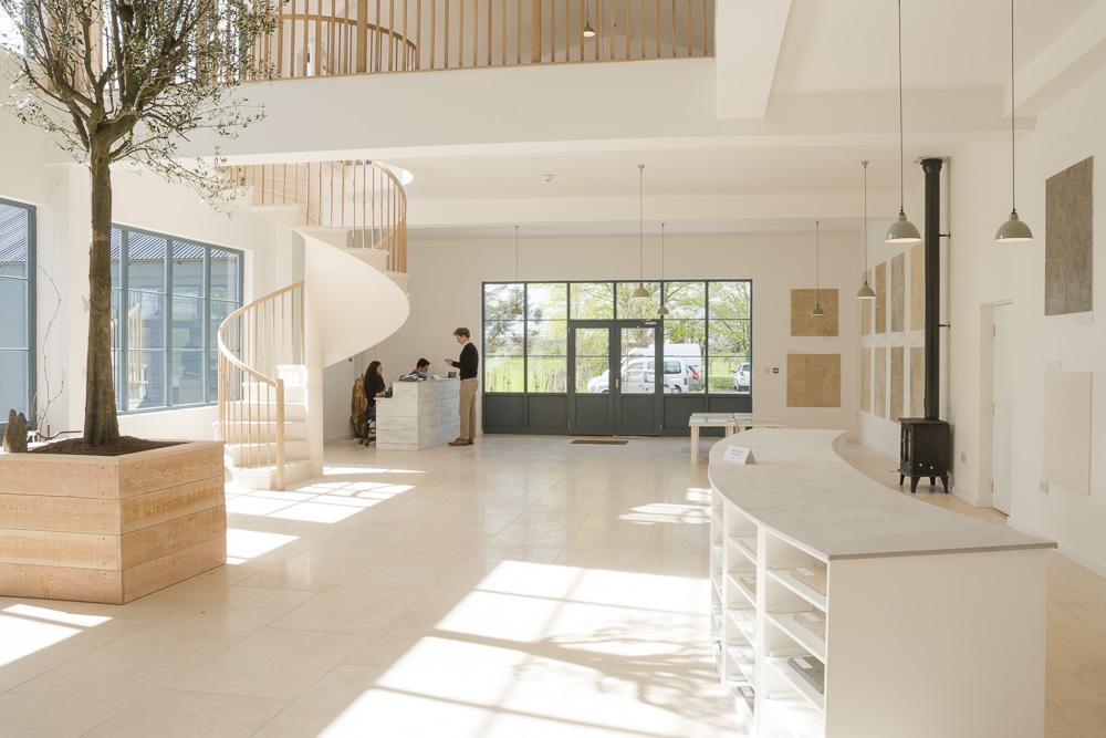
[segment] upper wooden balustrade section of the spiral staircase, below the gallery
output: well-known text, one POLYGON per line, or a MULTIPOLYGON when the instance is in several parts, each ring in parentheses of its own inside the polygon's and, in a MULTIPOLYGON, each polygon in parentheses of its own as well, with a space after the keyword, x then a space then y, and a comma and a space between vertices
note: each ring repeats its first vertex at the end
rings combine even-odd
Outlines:
POLYGON ((306 225, 351 230, 349 246, 387 251, 388 271, 407 272, 407 193, 378 162, 252 164, 223 168, 254 204, 295 205, 306 225))

